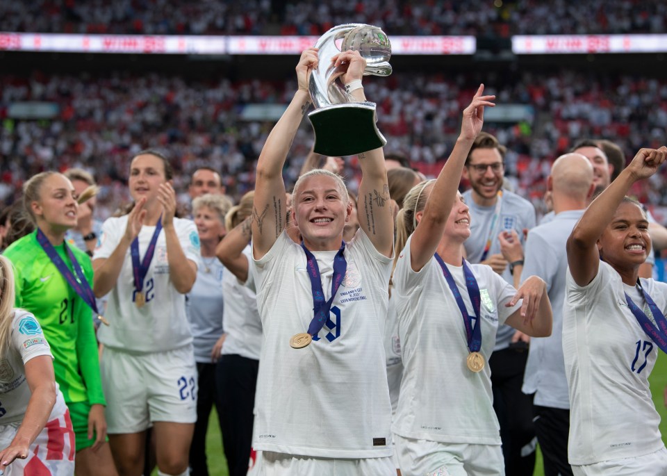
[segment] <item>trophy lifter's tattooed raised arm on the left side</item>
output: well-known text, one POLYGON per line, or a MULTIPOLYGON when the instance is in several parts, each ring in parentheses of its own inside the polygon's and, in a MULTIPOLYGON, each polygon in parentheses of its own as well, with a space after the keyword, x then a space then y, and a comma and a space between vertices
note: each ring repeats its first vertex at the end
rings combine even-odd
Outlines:
POLYGON ((308 79, 316 67, 318 67, 318 50, 306 49, 301 54, 296 68, 299 89, 267 137, 257 162, 252 208, 252 252, 256 259, 271 249, 285 227, 283 165, 299 124, 311 105, 308 79))

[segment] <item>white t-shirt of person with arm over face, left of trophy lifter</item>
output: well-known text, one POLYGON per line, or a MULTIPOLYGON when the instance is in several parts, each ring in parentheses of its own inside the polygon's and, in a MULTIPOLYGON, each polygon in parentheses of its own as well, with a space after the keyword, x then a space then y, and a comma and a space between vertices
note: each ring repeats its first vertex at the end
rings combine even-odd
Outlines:
MULTIPOLYGON (((252 259, 252 249, 247 245, 243 250, 248 263, 252 259)), ((236 354, 246 359, 258 360, 262 352, 262 320, 257 311, 257 295, 254 291, 252 266, 248 266, 245 284, 231 272, 222 278, 224 295, 224 331, 227 337, 222 345, 222 355, 236 354)))

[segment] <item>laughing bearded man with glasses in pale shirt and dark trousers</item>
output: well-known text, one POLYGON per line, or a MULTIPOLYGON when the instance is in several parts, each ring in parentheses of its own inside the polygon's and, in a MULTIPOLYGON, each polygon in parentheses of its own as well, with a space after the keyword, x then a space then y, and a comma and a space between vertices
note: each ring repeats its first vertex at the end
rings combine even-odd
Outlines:
MULTIPOLYGON (((485 132, 479 133, 470 149, 463 177, 471 189, 463 198, 470 206, 471 233, 464 245, 470 263, 487 264, 516 286, 513 274, 520 276, 524 230, 535 226, 535 209, 515 193, 502 190, 506 151, 485 132)), ((535 465, 532 397, 521 392, 527 341, 524 334, 501 326, 489 359, 505 474, 512 476, 532 475, 535 465)))

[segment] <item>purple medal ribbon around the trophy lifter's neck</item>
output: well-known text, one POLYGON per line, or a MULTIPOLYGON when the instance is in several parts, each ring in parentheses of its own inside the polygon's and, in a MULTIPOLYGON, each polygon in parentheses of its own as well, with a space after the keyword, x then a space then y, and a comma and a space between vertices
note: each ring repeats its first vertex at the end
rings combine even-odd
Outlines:
POLYGON ((345 255, 343 254, 343 251, 345 251, 345 241, 340 245, 340 249, 334 257, 334 276, 331 278, 331 297, 329 297, 329 300, 327 301, 324 301, 322 276, 320 274, 318 260, 308 251, 304 242, 301 242, 301 247, 304 249, 304 252, 306 252, 308 278, 311 279, 311 289, 313 290, 313 311, 315 312, 315 317, 311 320, 311 324, 308 325, 308 334, 311 334, 311 336, 314 337, 318 334, 320 329, 324 327, 324 322, 327 322, 329 311, 331 311, 331 304, 334 303, 334 297, 345 277, 345 271, 347 270, 347 261, 345 261, 345 255))

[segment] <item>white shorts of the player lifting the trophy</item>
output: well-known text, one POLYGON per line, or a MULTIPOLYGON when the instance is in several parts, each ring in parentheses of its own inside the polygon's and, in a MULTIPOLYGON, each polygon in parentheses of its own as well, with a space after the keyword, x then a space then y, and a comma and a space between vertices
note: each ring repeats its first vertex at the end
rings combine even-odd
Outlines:
POLYGON ((263 451, 258 476, 396 476, 391 457, 330 459, 263 451))

